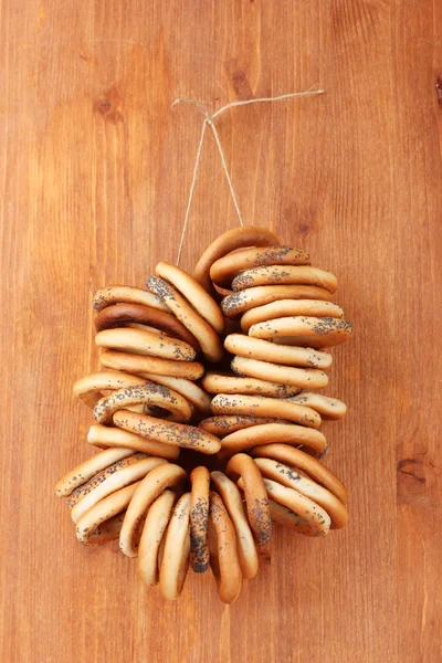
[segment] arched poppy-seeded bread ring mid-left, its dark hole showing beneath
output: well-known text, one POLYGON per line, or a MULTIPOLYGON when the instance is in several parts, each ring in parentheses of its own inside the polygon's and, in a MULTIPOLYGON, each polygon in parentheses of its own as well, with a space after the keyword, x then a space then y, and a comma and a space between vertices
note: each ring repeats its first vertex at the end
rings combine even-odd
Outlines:
POLYGON ((109 423, 117 410, 139 403, 162 408, 171 412, 177 421, 188 421, 192 414, 191 407, 182 396, 162 385, 147 382, 104 396, 94 407, 94 417, 97 423, 109 423))

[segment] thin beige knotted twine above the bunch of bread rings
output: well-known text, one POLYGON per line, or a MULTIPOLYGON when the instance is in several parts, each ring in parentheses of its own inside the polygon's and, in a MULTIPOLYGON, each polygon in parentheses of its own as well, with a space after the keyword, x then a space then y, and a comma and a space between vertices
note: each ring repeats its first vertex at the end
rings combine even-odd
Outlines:
POLYGON ((199 165, 201 161, 201 152, 202 152, 202 146, 204 143, 207 127, 209 126, 213 131, 213 136, 214 136, 215 143, 217 143, 217 146, 218 146, 218 151, 220 152, 220 157, 221 157, 221 164, 224 169, 225 179, 228 180, 230 193, 232 196, 233 204, 236 210, 236 214, 240 220, 240 224, 244 225, 240 206, 238 203, 238 199, 236 199, 236 196, 235 196, 235 192, 233 189, 232 179, 230 177, 229 168, 228 168, 228 165, 225 161, 224 150, 222 149, 220 136, 218 134, 218 130, 217 130, 217 127, 215 127, 215 124, 213 120, 215 119, 215 117, 218 117, 219 115, 224 113, 224 110, 228 110, 229 108, 234 108, 235 106, 248 106, 249 104, 261 104, 261 103, 265 103, 265 102, 282 102, 284 99, 291 99, 291 98, 297 97, 297 96, 311 96, 311 95, 316 95, 316 94, 324 94, 324 92, 325 92, 325 90, 312 90, 311 88, 305 92, 291 92, 288 94, 282 94, 276 97, 261 97, 259 99, 245 99, 245 101, 241 101, 241 102, 231 102, 230 104, 225 104, 225 106, 222 106, 221 108, 215 110, 215 113, 212 113, 212 114, 210 114, 209 108, 206 106, 206 104, 202 104, 201 102, 198 102, 197 99, 185 99, 185 98, 175 99, 173 104, 171 105, 171 108, 173 108, 173 106, 176 106, 177 104, 193 104, 204 115, 204 119, 202 122, 200 141, 199 141, 198 150, 197 150, 197 158, 196 158, 194 166, 193 166, 193 176, 192 176, 192 181, 190 185, 189 199, 188 199, 186 215, 185 215, 185 223, 182 227, 181 239, 180 239, 180 243, 179 243, 179 248, 178 248, 177 266, 179 266, 179 263, 181 260, 182 246, 185 243, 187 227, 189 223, 190 207, 192 204, 194 187, 197 183, 198 168, 199 168, 199 165))

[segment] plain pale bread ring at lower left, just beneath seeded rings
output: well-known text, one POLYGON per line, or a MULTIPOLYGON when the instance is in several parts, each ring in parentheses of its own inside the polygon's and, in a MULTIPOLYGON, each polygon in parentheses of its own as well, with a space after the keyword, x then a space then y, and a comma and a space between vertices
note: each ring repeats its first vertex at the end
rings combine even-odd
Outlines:
POLYGON ((133 463, 127 467, 124 467, 119 472, 115 472, 110 476, 107 476, 104 481, 98 483, 92 491, 87 493, 75 504, 71 512, 72 519, 74 523, 78 523, 80 518, 84 516, 84 514, 95 506, 101 499, 104 499, 112 493, 119 491, 137 481, 140 481, 146 474, 151 472, 154 467, 158 465, 167 464, 165 459, 156 459, 148 457, 138 461, 137 463, 133 463))

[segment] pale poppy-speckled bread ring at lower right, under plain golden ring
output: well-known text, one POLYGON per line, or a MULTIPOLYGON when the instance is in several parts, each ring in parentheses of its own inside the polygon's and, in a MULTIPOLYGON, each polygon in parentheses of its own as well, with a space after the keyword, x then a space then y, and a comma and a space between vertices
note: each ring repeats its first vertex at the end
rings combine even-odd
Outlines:
POLYGON ((324 508, 330 517, 332 529, 340 529, 347 525, 348 513, 346 507, 336 495, 327 491, 327 488, 324 488, 309 477, 298 474, 293 467, 283 465, 273 459, 255 457, 255 463, 265 478, 271 478, 287 488, 297 491, 324 508))

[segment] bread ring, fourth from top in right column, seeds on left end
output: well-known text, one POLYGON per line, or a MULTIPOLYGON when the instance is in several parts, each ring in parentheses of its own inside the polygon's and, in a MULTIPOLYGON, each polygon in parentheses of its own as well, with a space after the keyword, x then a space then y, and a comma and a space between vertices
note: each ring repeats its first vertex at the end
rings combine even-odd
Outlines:
POLYGON ((228 295, 221 302, 221 311, 225 317, 235 318, 251 308, 278 299, 329 301, 330 297, 327 290, 317 285, 260 285, 228 295))

